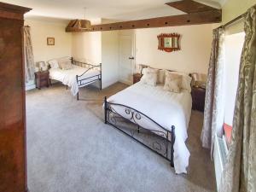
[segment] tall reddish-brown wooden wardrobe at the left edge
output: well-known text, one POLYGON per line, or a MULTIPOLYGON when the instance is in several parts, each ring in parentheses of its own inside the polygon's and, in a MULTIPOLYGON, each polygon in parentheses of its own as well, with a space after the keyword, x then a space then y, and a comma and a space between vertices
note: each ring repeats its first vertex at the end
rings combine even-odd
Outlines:
POLYGON ((0 2, 0 192, 27 191, 22 26, 29 10, 0 2))

